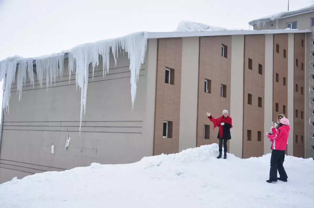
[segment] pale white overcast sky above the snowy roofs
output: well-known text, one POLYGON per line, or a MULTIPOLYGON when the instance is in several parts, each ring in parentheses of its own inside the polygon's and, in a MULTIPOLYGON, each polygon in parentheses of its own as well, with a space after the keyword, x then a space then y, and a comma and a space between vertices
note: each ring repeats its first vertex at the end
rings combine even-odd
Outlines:
MULTIPOLYGON (((314 0, 290 0, 290 10, 314 0)), ((173 31, 181 20, 249 29, 288 0, 0 0, 0 60, 35 57, 137 31, 173 31)))

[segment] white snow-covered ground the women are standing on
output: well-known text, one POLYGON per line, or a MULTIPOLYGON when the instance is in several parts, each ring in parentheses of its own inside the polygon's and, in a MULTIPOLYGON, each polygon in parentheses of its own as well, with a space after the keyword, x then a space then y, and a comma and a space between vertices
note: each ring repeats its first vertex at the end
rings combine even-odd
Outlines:
POLYGON ((266 183, 270 154, 217 159, 218 145, 74 168, 0 185, 1 208, 313 207, 314 161, 286 157, 288 182, 266 183))

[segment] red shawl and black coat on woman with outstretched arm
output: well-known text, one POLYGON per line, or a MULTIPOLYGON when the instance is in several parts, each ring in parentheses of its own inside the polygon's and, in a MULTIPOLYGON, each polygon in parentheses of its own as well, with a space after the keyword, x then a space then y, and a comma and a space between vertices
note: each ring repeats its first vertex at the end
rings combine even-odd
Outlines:
MULTIPOLYGON (((208 116, 207 116, 208 117, 208 116)), ((221 116, 217 119, 214 119, 213 116, 209 116, 208 119, 213 122, 214 128, 219 127, 217 139, 231 139, 230 129, 232 128, 232 119, 231 117, 221 116), (225 125, 220 125, 220 123, 225 123, 225 125)))

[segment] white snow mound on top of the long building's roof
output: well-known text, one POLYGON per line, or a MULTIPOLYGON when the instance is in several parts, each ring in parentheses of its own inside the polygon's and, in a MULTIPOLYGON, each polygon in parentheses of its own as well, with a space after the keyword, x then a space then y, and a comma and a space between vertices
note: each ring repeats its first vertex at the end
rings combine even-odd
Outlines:
POLYGON ((243 29, 226 29, 222 27, 210 26, 203 23, 181 21, 174 32, 194 32, 194 31, 229 31, 229 30, 243 30, 243 29))

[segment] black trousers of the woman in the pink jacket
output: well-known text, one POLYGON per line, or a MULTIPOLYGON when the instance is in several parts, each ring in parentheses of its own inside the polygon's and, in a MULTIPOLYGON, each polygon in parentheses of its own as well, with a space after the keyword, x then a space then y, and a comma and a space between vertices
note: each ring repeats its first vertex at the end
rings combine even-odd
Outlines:
POLYGON ((284 170, 284 150, 273 150, 272 156, 270 158, 270 171, 269 171, 269 179, 277 180, 277 170, 279 172, 279 176, 282 179, 287 179, 287 173, 284 170))

